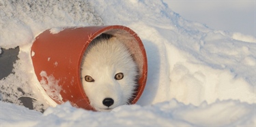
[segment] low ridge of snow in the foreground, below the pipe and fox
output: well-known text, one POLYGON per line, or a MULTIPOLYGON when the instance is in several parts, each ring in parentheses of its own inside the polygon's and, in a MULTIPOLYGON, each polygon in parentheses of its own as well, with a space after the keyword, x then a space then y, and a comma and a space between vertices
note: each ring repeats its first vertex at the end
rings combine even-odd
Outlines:
POLYGON ((10 103, 0 104, 1 126, 242 126, 255 124, 251 110, 256 106, 217 101, 195 107, 173 99, 145 107, 124 105, 111 112, 94 112, 64 103, 49 107, 42 115, 10 103))

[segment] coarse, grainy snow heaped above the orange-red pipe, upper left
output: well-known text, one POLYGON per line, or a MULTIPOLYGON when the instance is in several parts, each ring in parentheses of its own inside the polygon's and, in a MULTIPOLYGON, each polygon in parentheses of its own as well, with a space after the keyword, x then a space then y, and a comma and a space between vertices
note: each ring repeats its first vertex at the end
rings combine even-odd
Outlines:
POLYGON ((102 25, 88 1, 0 1, 1 48, 31 43, 42 31, 61 26, 102 25), (2 23, 3 22, 3 23, 2 23))

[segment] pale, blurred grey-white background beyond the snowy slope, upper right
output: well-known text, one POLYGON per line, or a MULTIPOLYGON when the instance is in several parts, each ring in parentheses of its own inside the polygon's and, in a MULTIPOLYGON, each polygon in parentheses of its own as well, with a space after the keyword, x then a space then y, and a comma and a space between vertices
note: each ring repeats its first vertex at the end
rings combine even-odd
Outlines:
POLYGON ((187 20, 212 29, 255 35, 255 0, 164 0, 171 10, 187 20))

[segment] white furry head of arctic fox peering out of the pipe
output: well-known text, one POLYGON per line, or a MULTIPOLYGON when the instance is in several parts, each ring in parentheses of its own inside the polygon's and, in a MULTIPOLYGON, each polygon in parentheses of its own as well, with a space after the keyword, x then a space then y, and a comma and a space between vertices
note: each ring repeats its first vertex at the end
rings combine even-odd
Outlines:
POLYGON ((137 77, 137 64, 122 41, 116 37, 91 41, 81 65, 81 79, 96 111, 129 104, 138 85, 137 77))

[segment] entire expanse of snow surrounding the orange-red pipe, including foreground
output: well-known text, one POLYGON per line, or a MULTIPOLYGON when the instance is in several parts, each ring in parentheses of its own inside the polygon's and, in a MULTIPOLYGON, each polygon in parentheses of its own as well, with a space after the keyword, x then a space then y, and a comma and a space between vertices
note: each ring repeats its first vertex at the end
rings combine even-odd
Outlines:
POLYGON ((0 126, 256 125, 255 37, 188 21, 162 1, 0 0, 0 7, 0 48, 20 47, 14 74, 0 80, 0 126), (46 29, 102 24, 128 26, 143 41, 148 77, 138 103, 111 112, 49 107, 34 85, 33 39, 46 29), (19 106, 20 96, 46 111, 19 106))

